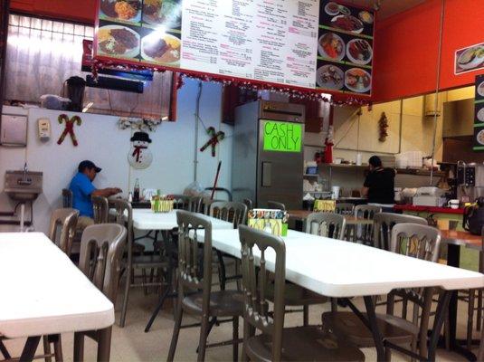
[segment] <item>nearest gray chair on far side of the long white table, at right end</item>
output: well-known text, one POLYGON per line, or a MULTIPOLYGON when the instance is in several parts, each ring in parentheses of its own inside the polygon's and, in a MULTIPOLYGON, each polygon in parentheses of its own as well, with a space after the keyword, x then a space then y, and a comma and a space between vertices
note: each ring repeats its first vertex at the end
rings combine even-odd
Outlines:
MULTIPOLYGON (((436 262, 440 244, 441 232, 431 226, 394 224, 390 252, 436 262)), ((384 340, 394 345, 410 344, 414 353, 417 352, 417 342, 420 340, 420 355, 427 357, 427 333, 434 291, 434 288, 419 288, 390 292, 386 301, 386 313, 376 314, 384 340), (401 317, 394 315, 395 297, 403 301, 401 317), (412 320, 407 319, 409 304, 413 304, 410 316, 412 320)), ((375 347, 372 332, 352 311, 326 312, 323 313, 322 321, 325 329, 334 331, 340 338, 346 338, 360 348, 375 347)), ((390 350, 387 349, 386 353, 386 360, 390 360, 390 350)))

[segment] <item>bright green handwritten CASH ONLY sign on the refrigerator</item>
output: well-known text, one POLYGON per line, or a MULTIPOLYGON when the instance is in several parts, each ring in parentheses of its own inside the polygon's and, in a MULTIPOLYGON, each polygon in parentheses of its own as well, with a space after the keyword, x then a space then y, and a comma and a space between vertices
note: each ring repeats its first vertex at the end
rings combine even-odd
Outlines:
POLYGON ((263 120, 264 151, 300 152, 302 124, 263 120))

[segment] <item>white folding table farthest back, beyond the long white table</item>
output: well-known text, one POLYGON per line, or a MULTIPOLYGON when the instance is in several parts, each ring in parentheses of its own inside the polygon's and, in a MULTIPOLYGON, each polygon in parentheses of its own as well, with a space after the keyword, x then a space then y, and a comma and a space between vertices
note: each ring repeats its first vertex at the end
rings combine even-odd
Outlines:
MULTIPOLYGON (((209 217, 209 216, 206 216, 209 217)), ((233 230, 233 223, 228 223, 223 220, 216 219, 214 217, 209 217, 212 228, 214 230, 233 230)), ((176 222, 176 210, 173 210, 169 213, 154 213, 151 209, 134 209, 133 210, 133 227, 140 231, 147 231, 151 233, 152 231, 155 232, 162 232, 163 238, 166 241, 166 245, 169 246, 169 231, 175 229, 178 226, 176 222)), ((149 235, 147 233, 147 235, 149 235)), ((157 240, 157 234, 155 236, 155 240, 157 240)), ((169 249, 169 248, 168 248, 169 249)), ((171 259, 170 259, 171 260, 171 259)), ((173 266, 175 268, 176 266, 173 266)), ((168 277, 171 280, 171 276, 168 277)), ((147 327, 145 328, 145 332, 151 329, 153 322, 157 318, 159 311, 163 308, 163 304, 166 298, 170 296, 176 296, 176 292, 169 291, 169 286, 166 292, 164 292, 160 300, 158 301, 157 308, 153 311, 150 319, 147 322, 147 327)))

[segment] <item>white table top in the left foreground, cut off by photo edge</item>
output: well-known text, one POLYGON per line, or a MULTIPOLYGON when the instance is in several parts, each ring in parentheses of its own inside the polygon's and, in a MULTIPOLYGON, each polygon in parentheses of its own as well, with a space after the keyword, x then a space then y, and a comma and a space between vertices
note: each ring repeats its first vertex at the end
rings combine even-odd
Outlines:
POLYGON ((0 334, 105 329, 112 303, 43 233, 0 233, 0 334))

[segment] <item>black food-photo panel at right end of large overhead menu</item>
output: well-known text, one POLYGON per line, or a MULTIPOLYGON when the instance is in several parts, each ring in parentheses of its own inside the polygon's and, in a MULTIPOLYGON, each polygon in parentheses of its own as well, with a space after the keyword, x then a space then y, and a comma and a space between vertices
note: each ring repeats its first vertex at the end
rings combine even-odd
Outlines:
POLYGON ((371 95, 375 14, 337 1, 321 0, 316 85, 371 95))

